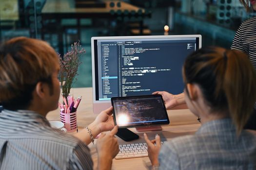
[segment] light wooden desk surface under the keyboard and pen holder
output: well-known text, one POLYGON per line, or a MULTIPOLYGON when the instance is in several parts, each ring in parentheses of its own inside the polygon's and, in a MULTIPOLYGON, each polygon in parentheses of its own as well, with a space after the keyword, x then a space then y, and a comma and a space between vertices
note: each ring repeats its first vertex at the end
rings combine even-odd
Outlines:
MULTIPOLYGON (((97 115, 93 113, 92 103, 92 88, 74 88, 71 89, 71 93, 76 96, 82 95, 82 100, 78 108, 78 126, 82 129, 84 126, 89 125, 97 115)), ((197 117, 193 115, 188 109, 183 110, 171 110, 168 111, 170 124, 162 126, 163 131, 147 132, 150 139, 153 139, 156 134, 161 137, 161 140, 170 140, 176 136, 194 134, 200 124, 197 121, 197 117)), ((49 112, 46 116, 48 120, 59 120, 59 109, 49 112)), ((136 132, 135 128, 131 128, 132 131, 136 132)), ((137 133, 137 132, 136 132, 137 133)), ((119 144, 133 143, 133 142, 144 142, 143 133, 137 133, 140 137, 136 141, 125 142, 118 138, 119 144)), ((96 145, 90 144, 92 158, 94 161, 94 168, 97 168, 97 152, 96 145)), ((113 170, 147 170, 150 166, 150 160, 148 157, 141 158, 130 158, 130 159, 119 159, 113 160, 113 170)))

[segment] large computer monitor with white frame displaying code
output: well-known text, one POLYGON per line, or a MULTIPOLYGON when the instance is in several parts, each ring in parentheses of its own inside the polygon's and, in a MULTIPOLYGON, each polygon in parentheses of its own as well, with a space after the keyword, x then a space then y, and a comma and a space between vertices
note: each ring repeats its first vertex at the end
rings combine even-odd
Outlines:
POLYGON ((182 66, 201 48, 201 35, 92 37, 94 113, 111 97, 183 91, 182 66))

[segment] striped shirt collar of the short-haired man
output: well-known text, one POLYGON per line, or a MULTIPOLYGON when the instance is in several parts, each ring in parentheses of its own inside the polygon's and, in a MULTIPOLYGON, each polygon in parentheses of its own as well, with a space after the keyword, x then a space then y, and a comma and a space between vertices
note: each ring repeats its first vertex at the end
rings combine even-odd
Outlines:
POLYGON ((45 126, 50 126, 49 121, 42 115, 31 110, 2 110, 0 113, 0 119, 5 119, 6 121, 15 121, 19 123, 33 123, 45 126))

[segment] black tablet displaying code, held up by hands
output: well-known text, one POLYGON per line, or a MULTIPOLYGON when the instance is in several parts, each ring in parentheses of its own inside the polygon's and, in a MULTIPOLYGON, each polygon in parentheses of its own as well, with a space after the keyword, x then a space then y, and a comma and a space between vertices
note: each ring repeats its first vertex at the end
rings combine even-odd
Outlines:
POLYGON ((113 97, 111 103, 119 128, 170 123, 161 95, 113 97))

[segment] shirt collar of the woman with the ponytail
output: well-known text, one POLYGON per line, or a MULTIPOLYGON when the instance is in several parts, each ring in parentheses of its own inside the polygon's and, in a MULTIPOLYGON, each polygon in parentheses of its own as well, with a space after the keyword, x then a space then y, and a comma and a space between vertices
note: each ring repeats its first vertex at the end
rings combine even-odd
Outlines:
POLYGON ((196 134, 203 134, 203 133, 221 133, 221 132, 227 132, 227 130, 230 131, 236 131, 236 126, 233 124, 232 119, 226 118, 226 119, 217 119, 208 121, 197 130, 196 134))

